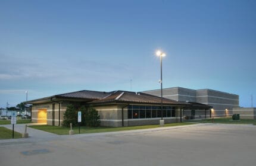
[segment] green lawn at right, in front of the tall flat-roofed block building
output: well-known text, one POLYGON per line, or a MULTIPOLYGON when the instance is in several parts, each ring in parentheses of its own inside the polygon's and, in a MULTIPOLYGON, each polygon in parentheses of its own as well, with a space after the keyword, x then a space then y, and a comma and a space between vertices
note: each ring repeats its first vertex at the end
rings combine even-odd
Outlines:
MULTIPOLYGON (((212 119, 202 119, 202 120, 187 120, 186 122, 196 122, 196 123, 213 123, 212 119)), ((254 119, 240 119, 240 120, 232 120, 231 117, 227 118, 214 118, 214 123, 223 123, 223 124, 242 124, 248 125, 253 124, 256 125, 256 120, 254 119)))

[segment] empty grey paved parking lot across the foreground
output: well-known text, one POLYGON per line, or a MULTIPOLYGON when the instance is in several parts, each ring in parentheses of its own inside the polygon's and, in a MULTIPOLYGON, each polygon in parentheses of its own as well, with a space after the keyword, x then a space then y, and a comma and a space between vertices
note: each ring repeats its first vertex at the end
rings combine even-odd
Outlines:
POLYGON ((0 141, 0 165, 255 165, 256 126, 202 124, 166 130, 0 141))

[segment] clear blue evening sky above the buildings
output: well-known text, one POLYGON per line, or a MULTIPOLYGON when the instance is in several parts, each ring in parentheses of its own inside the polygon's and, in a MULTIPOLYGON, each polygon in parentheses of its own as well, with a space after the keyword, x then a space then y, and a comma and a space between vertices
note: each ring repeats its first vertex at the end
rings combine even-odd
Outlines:
MULTIPOLYGON (((79 90, 256 98, 256 1, 0 1, 0 107, 79 90), (132 81, 130 81, 132 80, 132 81)), ((254 100, 254 106, 256 102, 254 100)))

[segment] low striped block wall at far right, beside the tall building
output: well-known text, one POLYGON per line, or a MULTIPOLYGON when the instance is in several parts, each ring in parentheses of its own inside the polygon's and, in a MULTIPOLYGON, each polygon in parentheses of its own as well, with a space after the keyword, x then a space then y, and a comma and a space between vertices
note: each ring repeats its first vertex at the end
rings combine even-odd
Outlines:
POLYGON ((240 119, 256 119, 256 108, 233 108, 233 114, 240 114, 240 119))

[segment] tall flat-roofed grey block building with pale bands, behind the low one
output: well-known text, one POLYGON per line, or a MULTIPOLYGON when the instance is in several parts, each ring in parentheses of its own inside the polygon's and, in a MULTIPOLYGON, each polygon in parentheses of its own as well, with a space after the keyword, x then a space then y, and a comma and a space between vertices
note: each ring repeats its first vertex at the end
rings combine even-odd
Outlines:
MULTIPOLYGON (((146 94, 161 96, 161 90, 143 91, 146 94)), ((188 88, 174 87, 163 89, 163 97, 175 101, 188 103, 201 103, 211 106, 211 114, 207 117, 224 117, 233 114, 233 108, 239 107, 239 95, 216 90, 191 90, 188 88)), ((195 108, 186 109, 185 116, 192 119, 204 117, 202 111, 195 108)))

